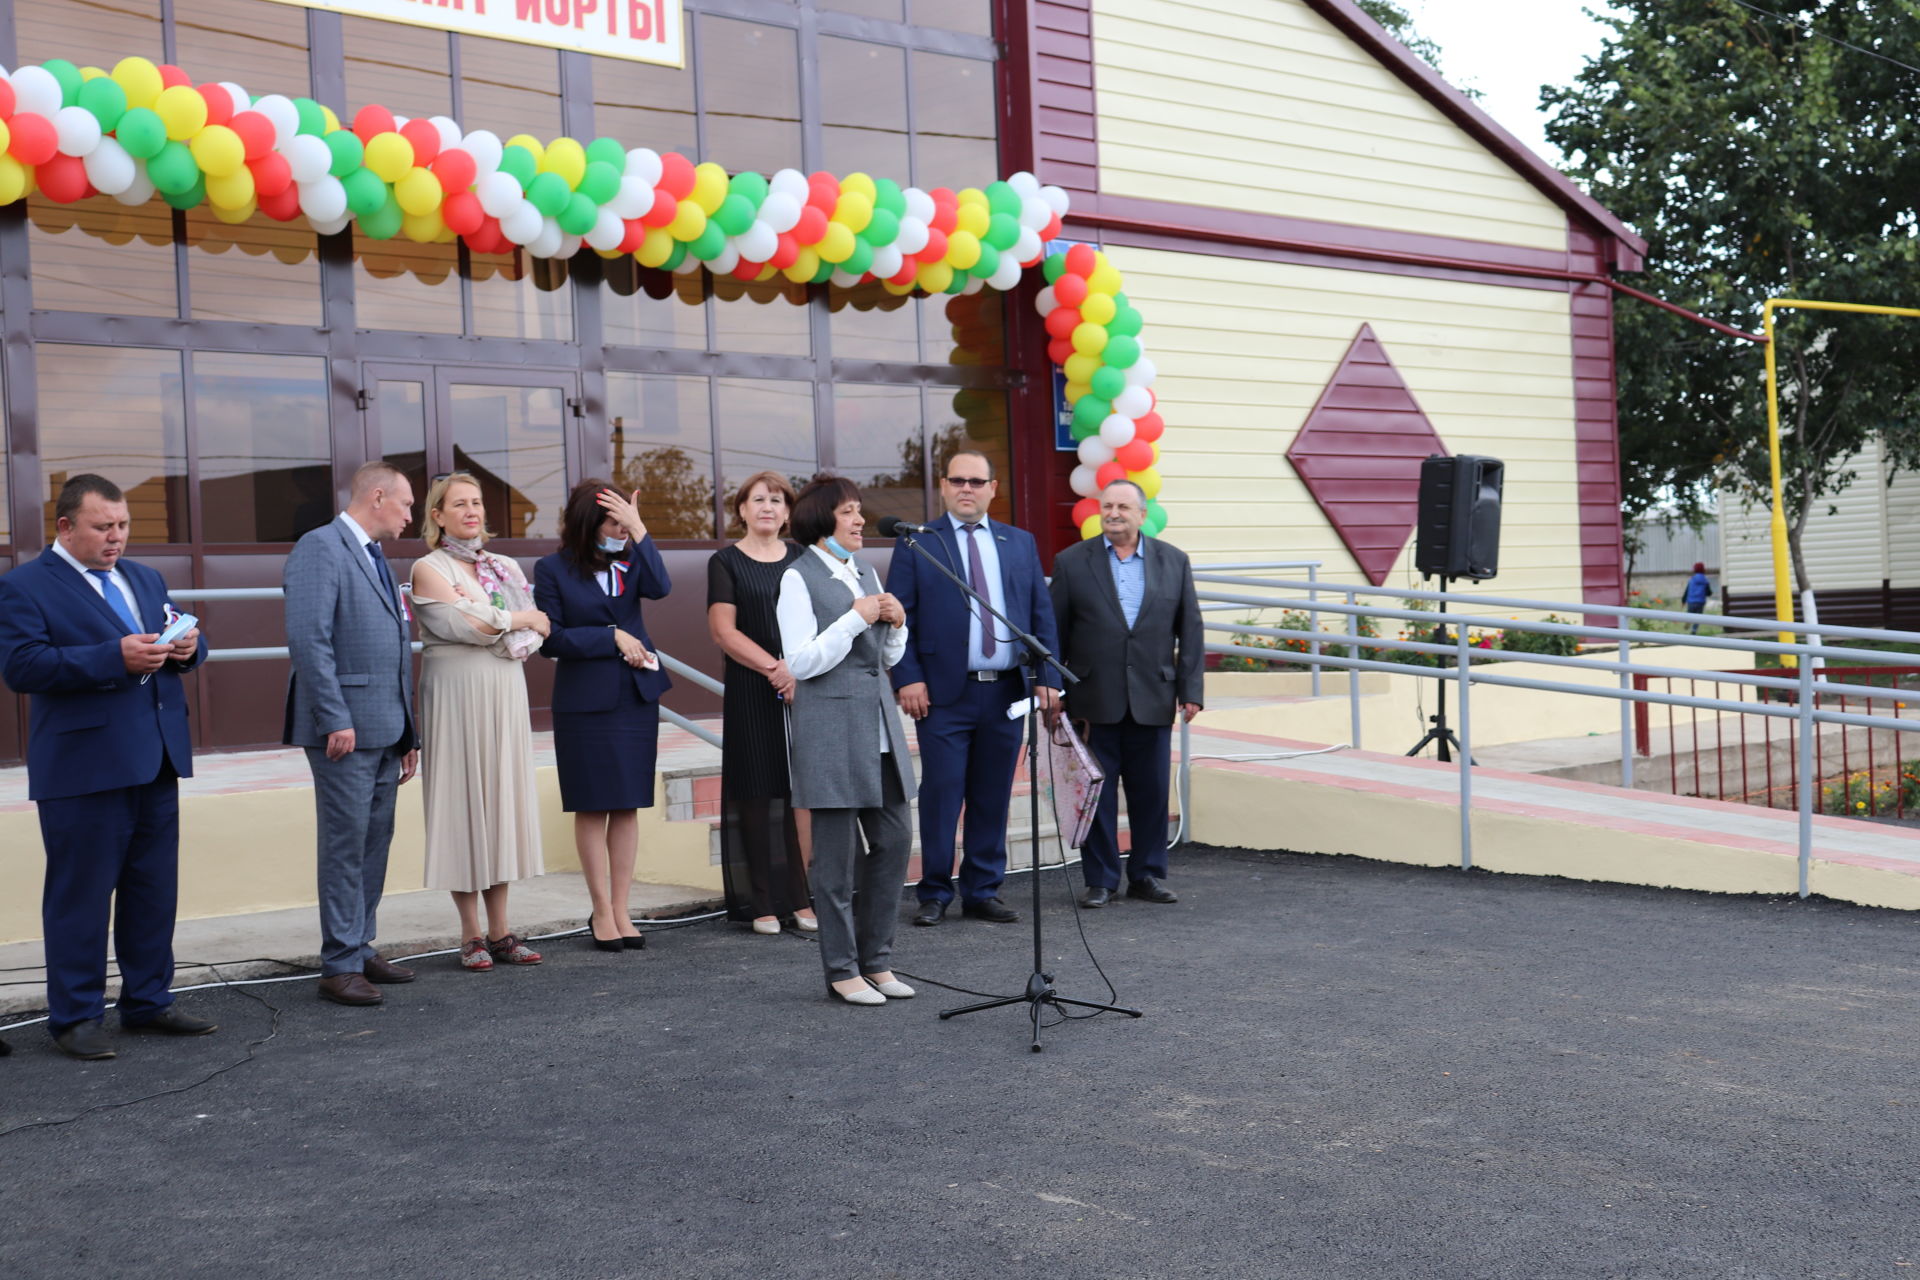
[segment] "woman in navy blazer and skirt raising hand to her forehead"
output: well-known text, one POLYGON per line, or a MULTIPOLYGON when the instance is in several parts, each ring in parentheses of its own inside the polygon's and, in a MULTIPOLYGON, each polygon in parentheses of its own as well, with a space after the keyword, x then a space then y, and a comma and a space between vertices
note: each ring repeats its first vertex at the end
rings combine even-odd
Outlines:
POLYGON ((653 808, 660 695, 672 681, 653 656, 639 601, 672 589, 639 518, 639 493, 582 480, 566 499, 561 549, 534 566, 534 604, 553 624, 541 652, 555 660, 553 756, 561 808, 593 900, 588 933, 603 952, 639 950, 628 892, 639 819, 653 808))

